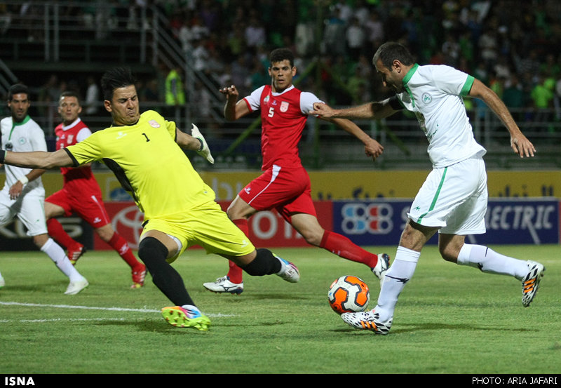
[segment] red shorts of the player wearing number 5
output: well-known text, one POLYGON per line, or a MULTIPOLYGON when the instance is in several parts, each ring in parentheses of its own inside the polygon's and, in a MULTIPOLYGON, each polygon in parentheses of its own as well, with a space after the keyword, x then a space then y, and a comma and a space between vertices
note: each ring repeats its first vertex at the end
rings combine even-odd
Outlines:
POLYGON ((255 210, 275 208, 288 222, 293 213, 316 216, 311 199, 310 177, 304 167, 281 168, 273 165, 238 195, 255 210))

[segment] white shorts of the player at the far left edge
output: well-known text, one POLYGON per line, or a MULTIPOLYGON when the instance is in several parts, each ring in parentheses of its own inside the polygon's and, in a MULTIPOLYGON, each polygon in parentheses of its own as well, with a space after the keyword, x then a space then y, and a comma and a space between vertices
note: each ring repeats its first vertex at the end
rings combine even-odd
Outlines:
POLYGON ((26 192, 24 189, 16 200, 10 199, 8 190, 8 187, 4 187, 0 192, 0 225, 8 224, 17 215, 27 228, 27 236, 46 234, 45 190, 36 187, 26 192))

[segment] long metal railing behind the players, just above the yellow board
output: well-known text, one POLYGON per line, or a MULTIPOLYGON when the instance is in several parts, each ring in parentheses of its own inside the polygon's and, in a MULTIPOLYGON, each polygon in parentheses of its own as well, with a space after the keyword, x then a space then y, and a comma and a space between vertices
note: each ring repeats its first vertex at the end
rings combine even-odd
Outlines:
MULTIPOLYGON (((188 104, 189 105, 189 104, 188 104)), ((176 121, 177 127, 184 131, 191 128, 191 123, 201 129, 215 156, 215 165, 201 163, 200 168, 259 168, 261 163, 260 121, 258 116, 245 117, 235 123, 217 121, 210 115, 201 114, 201 109, 194 109, 190 119, 182 112, 190 109, 188 105, 178 107, 175 116, 166 116, 176 121), (240 141, 240 139, 243 140, 240 141)), ((223 104, 213 105, 210 109, 219 112, 223 104)), ((30 114, 40 123, 51 144, 53 129, 59 123, 56 105, 33 103, 30 114), (39 109, 41 108, 41 109, 39 109), (43 112, 43 114, 39 114, 43 112)), ((163 103, 142 103, 141 110, 155 109, 165 112, 163 103)), ((514 116, 527 117, 518 121, 518 125, 536 147, 536 156, 520 159, 510 147, 508 131, 496 119, 490 109, 480 107, 468 111, 471 116, 475 138, 487 149, 485 160, 489 168, 499 169, 558 169, 561 168, 561 121, 555 119, 555 109, 539 112, 534 109, 513 109, 514 116), (549 121, 535 121, 532 115, 550 116, 549 121)), ((93 131, 107 128, 111 124, 109 113, 100 109, 95 116, 83 116, 93 131)), ((300 156, 308 168, 430 168, 426 153, 428 142, 419 129, 417 120, 405 114, 396 114, 381 121, 356 121, 363 131, 384 145, 384 154, 374 163, 365 156, 363 145, 334 124, 311 117, 308 120, 300 142, 300 156)))

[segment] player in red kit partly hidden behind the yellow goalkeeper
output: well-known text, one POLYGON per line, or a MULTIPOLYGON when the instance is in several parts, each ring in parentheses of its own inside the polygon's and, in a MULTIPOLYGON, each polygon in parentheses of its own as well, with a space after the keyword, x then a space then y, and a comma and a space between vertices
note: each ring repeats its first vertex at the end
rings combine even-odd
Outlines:
MULTIPOLYGON (((79 117, 81 111, 77 93, 66 91, 60 95, 58 113, 62 117, 62 123, 55 128, 56 149, 74 145, 91 135, 90 128, 79 117)), ((72 213, 78 214, 128 264, 133 277, 131 288, 142 287, 146 267, 137 260, 123 236, 115 232, 111 226, 111 220, 103 204, 100 186, 95 180, 90 164, 78 168, 62 167, 60 171, 64 177, 62 189, 45 199, 45 215, 50 236, 67 248, 68 257, 75 264, 76 260, 85 252, 84 246, 72 239, 62 229, 62 225, 56 217, 67 217, 72 213)))

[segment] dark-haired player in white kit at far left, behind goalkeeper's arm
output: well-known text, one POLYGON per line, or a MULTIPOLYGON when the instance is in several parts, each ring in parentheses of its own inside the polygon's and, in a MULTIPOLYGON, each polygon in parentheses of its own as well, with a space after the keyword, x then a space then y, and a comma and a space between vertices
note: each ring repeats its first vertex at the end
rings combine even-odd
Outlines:
MULTIPOLYGON (((11 116, 0 121, 2 149, 13 152, 47 151, 45 134, 27 114, 29 91, 18 83, 8 93, 11 116)), ((47 234, 45 189, 41 182, 44 170, 5 166, 6 182, 0 192, 0 225, 11 222, 15 215, 27 228, 35 245, 50 257, 70 283, 66 295, 79 293, 88 281, 74 268, 65 251, 47 234)))

